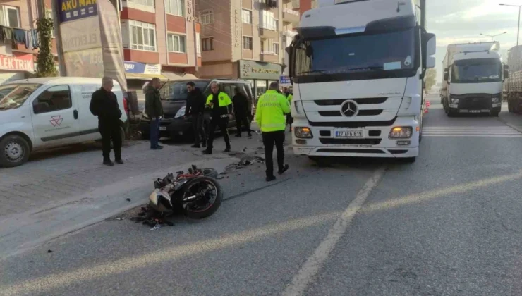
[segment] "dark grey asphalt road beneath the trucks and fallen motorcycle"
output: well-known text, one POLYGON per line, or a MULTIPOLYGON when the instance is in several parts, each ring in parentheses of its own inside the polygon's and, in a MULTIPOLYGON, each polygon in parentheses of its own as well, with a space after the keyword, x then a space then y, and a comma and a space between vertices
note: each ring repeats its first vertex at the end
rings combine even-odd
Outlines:
POLYGON ((203 221, 111 219, 0 262, 0 295, 522 295, 522 116, 430 101, 414 164, 253 164, 203 221))

